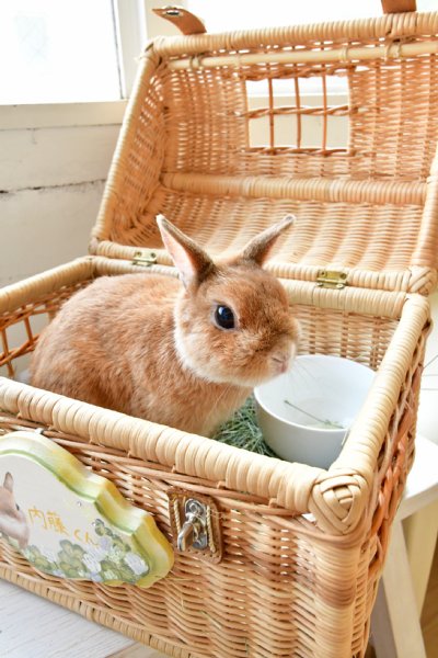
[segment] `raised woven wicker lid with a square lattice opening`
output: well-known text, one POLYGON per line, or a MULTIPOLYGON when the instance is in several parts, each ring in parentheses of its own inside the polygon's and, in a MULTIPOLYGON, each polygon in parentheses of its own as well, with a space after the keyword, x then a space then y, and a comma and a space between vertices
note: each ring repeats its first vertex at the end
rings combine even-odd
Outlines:
POLYGON ((159 213, 211 254, 292 213, 268 263, 276 275, 427 294, 438 254, 437 35, 438 13, 407 13, 152 42, 91 252, 172 265, 159 213), (331 137, 337 121, 348 125, 344 144, 331 137))

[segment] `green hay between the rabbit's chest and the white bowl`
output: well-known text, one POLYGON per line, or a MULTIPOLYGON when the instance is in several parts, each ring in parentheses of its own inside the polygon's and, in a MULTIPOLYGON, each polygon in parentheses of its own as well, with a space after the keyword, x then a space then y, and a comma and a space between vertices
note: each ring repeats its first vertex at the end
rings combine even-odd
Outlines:
POLYGON ((266 445, 262 430, 257 424, 255 416, 255 400, 251 396, 247 398, 243 407, 235 411, 234 416, 224 422, 216 434, 212 436, 216 441, 233 445, 234 447, 242 447, 250 452, 257 453, 260 455, 267 455, 268 457, 278 457, 266 445))

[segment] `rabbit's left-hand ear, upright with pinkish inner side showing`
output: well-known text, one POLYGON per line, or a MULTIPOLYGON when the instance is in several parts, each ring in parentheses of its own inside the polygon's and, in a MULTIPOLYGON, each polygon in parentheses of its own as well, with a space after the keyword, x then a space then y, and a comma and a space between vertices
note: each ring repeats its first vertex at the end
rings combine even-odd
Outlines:
POLYGON ((157 217, 157 224, 185 287, 199 284, 215 266, 211 259, 163 215, 157 217))

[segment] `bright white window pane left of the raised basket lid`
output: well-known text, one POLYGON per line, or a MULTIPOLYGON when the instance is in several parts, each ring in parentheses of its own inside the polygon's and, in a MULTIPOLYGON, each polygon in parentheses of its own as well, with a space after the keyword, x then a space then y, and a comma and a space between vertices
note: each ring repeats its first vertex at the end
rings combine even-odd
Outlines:
POLYGON ((111 0, 0 1, 0 103, 120 98, 111 0))

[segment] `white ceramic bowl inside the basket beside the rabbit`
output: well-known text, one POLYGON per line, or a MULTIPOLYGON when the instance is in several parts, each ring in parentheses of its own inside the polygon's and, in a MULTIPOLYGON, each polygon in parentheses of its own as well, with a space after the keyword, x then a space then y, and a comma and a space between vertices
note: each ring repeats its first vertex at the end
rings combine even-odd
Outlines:
POLYGON ((348 359, 297 356, 290 372, 254 390, 266 443, 288 462, 328 468, 341 453, 374 374, 348 359))

